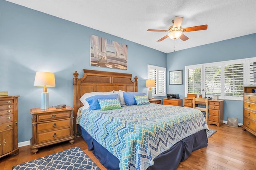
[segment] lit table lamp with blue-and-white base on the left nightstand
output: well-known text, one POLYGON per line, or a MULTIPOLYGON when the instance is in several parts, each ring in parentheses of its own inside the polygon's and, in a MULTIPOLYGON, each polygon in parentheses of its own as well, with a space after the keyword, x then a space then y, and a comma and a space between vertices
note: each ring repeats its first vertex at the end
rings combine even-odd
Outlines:
POLYGON ((44 91, 41 93, 40 109, 49 109, 49 93, 46 87, 55 87, 54 73, 36 72, 34 86, 44 87, 44 91))

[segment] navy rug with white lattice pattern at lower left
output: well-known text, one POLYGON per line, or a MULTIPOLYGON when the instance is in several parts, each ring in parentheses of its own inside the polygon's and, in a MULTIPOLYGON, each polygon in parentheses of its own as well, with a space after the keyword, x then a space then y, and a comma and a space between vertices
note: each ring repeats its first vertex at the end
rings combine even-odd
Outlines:
POLYGON ((100 170, 79 147, 25 162, 13 170, 100 170))

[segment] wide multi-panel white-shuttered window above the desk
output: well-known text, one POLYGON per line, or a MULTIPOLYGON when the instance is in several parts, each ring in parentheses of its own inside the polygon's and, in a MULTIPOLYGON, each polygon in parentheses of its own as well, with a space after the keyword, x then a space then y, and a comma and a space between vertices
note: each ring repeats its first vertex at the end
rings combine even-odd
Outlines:
POLYGON ((187 93, 218 95, 220 99, 242 100, 244 85, 255 85, 256 58, 185 66, 185 96, 187 93))

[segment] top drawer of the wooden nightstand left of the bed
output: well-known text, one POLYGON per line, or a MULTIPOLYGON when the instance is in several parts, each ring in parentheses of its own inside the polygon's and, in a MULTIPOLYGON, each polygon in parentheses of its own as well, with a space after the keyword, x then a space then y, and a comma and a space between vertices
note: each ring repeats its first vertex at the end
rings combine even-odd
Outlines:
POLYGON ((70 112, 37 115, 37 122, 69 118, 70 112))

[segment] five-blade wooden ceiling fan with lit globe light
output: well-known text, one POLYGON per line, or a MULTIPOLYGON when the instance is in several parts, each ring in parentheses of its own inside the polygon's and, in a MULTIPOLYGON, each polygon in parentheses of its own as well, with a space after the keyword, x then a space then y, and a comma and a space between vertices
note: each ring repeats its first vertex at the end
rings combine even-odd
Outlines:
POLYGON ((173 25, 169 27, 169 30, 151 30, 151 29, 148 29, 148 31, 168 32, 168 34, 166 36, 164 36, 160 40, 157 40, 157 42, 160 42, 160 41, 166 39, 167 37, 170 37, 172 40, 176 40, 176 39, 180 38, 182 41, 186 41, 189 38, 187 36, 185 36, 183 34, 183 32, 207 30, 207 25, 181 28, 182 21, 183 21, 183 17, 176 16, 174 18, 174 20, 172 20, 173 25))

